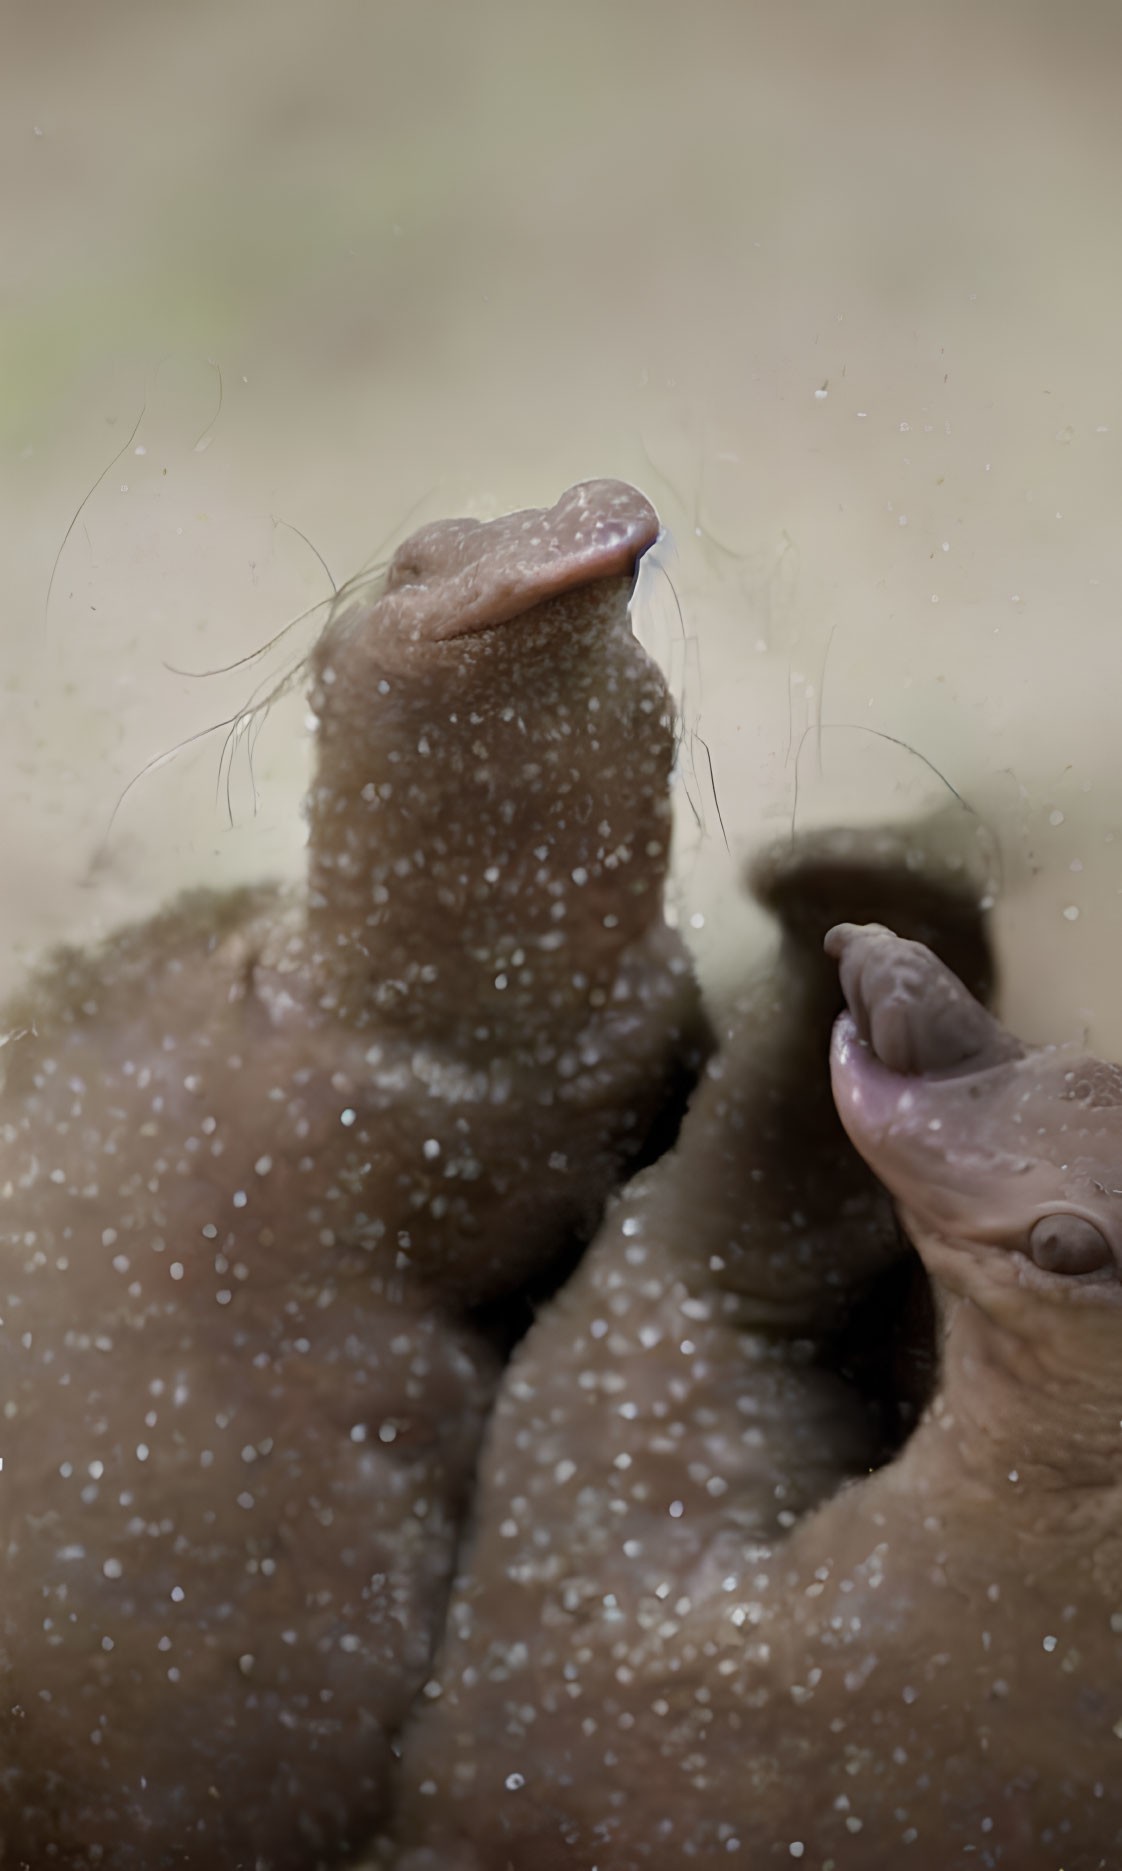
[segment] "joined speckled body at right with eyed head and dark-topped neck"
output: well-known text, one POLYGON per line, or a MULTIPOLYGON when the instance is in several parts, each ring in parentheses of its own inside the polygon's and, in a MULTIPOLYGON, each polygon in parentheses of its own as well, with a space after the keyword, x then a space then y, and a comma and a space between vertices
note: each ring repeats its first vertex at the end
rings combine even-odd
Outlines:
POLYGON ((918 941, 823 956, 860 904, 987 979, 969 866, 840 849, 757 868, 774 973, 503 1379, 398 1871, 1122 1864, 1122 1074, 918 941), (866 1164, 942 1336, 875 1472, 834 1336, 901 1252, 866 1164))

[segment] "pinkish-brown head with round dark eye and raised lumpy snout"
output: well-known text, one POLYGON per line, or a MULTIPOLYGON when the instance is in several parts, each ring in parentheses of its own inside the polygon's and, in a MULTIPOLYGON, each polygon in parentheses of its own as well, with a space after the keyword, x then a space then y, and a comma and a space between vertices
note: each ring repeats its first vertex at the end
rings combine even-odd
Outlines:
POLYGON ((1122 1066, 1021 1044, 929 949, 879 924, 840 924, 827 952, 849 1008, 838 1113, 928 1270, 1002 1325, 1049 1315, 1055 1336, 1066 1317, 1086 1351, 1101 1330, 1115 1364, 1122 1066))

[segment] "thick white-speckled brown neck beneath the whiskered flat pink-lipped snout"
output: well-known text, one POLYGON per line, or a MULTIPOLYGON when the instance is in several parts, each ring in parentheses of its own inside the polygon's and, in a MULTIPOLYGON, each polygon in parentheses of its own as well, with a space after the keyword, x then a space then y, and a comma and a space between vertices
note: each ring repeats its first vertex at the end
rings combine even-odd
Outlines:
POLYGON ((583 1025, 660 922, 671 758, 630 632, 516 703, 497 683, 454 705, 402 683, 361 735, 327 715, 309 803, 320 1005, 460 1050, 583 1025))

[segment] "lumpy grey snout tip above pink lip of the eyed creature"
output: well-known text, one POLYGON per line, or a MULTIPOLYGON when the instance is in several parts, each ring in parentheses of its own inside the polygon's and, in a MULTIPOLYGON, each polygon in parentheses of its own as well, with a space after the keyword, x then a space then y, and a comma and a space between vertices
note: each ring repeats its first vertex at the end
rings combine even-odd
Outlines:
POLYGON ((832 1044, 838 1110, 870 1141, 941 1130, 933 1106, 944 1100, 924 1098, 928 1087, 980 1080, 1025 1055, 922 943, 875 922, 840 922, 825 947, 847 1005, 832 1044))

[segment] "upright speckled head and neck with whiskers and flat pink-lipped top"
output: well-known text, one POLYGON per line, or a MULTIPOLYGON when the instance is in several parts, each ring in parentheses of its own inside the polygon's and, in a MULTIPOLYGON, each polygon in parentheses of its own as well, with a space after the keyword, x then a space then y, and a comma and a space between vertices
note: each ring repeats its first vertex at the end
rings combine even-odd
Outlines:
POLYGON ((606 995, 660 921, 673 703, 628 616, 656 535, 634 486, 585 481, 424 526, 340 591, 310 659, 309 926, 355 994, 525 1031, 606 995))

